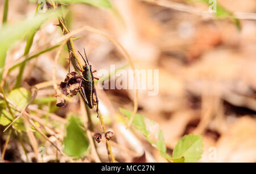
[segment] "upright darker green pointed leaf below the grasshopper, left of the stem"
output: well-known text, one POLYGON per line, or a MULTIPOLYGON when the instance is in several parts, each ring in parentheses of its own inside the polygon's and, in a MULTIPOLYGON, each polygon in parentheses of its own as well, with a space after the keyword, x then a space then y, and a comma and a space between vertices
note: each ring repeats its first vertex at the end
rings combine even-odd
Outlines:
POLYGON ((78 118, 72 116, 67 125, 67 135, 64 138, 64 153, 68 156, 81 157, 89 148, 89 140, 81 128, 78 118))

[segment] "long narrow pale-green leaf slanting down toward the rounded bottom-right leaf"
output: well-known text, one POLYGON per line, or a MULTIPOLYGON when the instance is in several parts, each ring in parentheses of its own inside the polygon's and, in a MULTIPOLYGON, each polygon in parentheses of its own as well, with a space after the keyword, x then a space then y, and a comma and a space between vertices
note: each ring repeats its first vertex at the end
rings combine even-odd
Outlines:
MULTIPOLYGON (((125 110, 121 107, 119 108, 119 110, 127 118, 131 118, 131 111, 125 110)), ((171 156, 166 153, 166 145, 164 144, 163 132, 159 129, 158 123, 150 121, 150 119, 142 115, 135 114, 133 125, 138 131, 146 136, 148 142, 150 142, 152 146, 159 151, 160 155, 162 155, 163 158, 171 158, 171 156)))

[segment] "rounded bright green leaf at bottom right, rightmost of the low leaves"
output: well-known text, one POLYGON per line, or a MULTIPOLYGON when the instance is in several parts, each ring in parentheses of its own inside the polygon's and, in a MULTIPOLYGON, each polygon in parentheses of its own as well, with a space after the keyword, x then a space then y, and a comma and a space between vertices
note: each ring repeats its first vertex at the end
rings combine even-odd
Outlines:
MULTIPOLYGON (((172 158, 178 159, 184 157, 187 163, 195 163, 201 158, 203 153, 203 139, 200 135, 185 135, 177 142, 172 158)), ((171 160, 174 160, 171 159, 171 160)))

